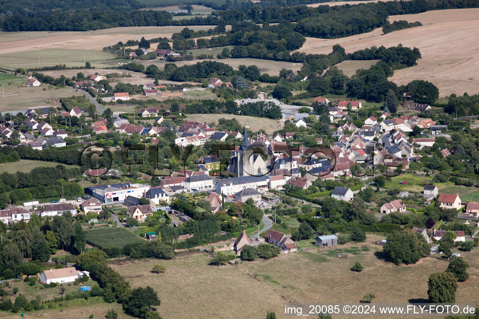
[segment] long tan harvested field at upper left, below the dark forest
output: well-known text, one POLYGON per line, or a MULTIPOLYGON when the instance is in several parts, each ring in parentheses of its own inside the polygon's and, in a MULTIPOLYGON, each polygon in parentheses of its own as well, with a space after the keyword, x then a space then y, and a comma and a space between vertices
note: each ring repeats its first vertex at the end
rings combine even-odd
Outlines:
MULTIPOLYGON (((190 29, 197 31, 208 30, 214 27, 214 25, 195 25, 191 26, 190 29)), ((0 54, 32 51, 40 48, 102 50, 105 46, 116 44, 119 41, 140 40, 143 36, 147 40, 158 37, 171 37, 173 33, 180 32, 184 28, 184 26, 121 27, 85 32, 1 33, 0 42, 3 42, 3 44, 0 54)))

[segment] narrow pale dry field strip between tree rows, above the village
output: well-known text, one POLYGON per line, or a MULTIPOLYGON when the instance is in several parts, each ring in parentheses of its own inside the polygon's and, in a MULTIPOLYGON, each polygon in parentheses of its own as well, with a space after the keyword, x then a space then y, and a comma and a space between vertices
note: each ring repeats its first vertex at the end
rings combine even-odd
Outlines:
MULTIPOLYGON (((252 59, 252 58, 243 58, 243 59, 225 59, 225 60, 189 60, 189 61, 178 61, 174 62, 176 66, 184 66, 184 65, 192 65, 202 61, 217 61, 222 62, 225 64, 230 65, 233 69, 238 69, 238 66, 245 65, 245 66, 258 66, 261 74, 268 73, 271 76, 279 75, 279 71, 284 67, 286 69, 291 69, 295 73, 296 71, 301 69, 303 66, 302 63, 292 63, 292 62, 283 62, 283 61, 272 61, 272 60, 264 60, 264 59, 252 59)), ((164 67, 166 61, 162 60, 153 60, 153 61, 140 61, 145 65, 145 68, 148 67, 150 64, 157 65, 160 69, 164 67)))

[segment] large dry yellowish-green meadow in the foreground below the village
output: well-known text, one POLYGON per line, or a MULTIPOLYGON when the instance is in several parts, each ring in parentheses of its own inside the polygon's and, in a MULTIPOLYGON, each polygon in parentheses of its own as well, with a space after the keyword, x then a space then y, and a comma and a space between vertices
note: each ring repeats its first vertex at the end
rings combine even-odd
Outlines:
MULTIPOLYGON (((288 302, 358 303, 366 293, 375 294, 375 302, 386 303, 427 298, 429 275, 444 271, 448 264, 426 257, 416 264, 396 266, 377 259, 374 253, 382 251, 381 246, 365 243, 337 249, 346 258, 335 257, 336 249, 320 249, 328 253, 310 250, 218 267, 208 265, 209 257, 198 253, 169 261, 139 261, 115 270, 124 276, 142 275, 130 280, 133 287, 149 285, 159 291, 158 311, 163 318, 264 318, 266 311, 271 310, 279 319, 287 318, 282 314, 288 302), (363 251, 363 246, 369 251, 363 251), (356 261, 364 266, 360 273, 350 270, 356 261), (166 267, 166 272, 152 274, 154 264, 166 267), (321 275, 324 269, 328 270, 327 275, 321 275), (178 274, 182 274, 181 280, 178 274), (220 283, 218 278, 224 280, 220 283), (233 299, 235 302, 225 307, 225 301, 233 299)), ((466 293, 468 302, 478 303, 479 297, 470 291, 479 284, 479 249, 461 256, 470 265, 470 279, 458 284, 456 296, 466 293)))

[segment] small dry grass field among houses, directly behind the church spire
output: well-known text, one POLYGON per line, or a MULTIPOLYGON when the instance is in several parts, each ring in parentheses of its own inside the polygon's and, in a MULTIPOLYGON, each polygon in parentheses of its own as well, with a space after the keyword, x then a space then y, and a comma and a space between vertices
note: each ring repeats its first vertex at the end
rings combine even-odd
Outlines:
MULTIPOLYGON (((232 115, 228 114, 190 114, 188 115, 188 121, 217 123, 219 119, 230 119, 231 116, 232 115)), ((253 132, 264 129, 267 134, 272 134, 274 131, 278 130, 278 121, 276 120, 242 115, 234 115, 233 117, 238 120, 239 124, 241 124, 242 126, 249 126, 253 132)))

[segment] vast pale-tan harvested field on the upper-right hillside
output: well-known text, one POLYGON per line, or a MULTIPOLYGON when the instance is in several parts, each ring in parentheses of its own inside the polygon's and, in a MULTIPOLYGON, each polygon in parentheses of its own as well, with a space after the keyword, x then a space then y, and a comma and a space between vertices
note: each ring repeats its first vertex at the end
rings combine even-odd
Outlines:
MULTIPOLYGON (((440 11, 429 14, 434 13, 442 16, 440 11)), ((422 55, 418 65, 395 71, 389 80, 398 85, 414 79, 430 81, 439 88, 440 96, 445 97, 451 93, 479 92, 479 43, 471 41, 478 36, 479 21, 440 22, 384 35, 381 29, 376 29, 341 39, 307 38, 298 51, 327 54, 334 44, 342 45, 347 53, 372 45, 417 47, 422 55)))

